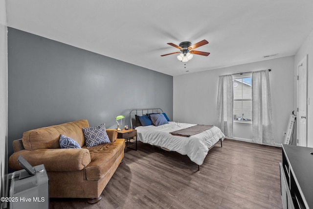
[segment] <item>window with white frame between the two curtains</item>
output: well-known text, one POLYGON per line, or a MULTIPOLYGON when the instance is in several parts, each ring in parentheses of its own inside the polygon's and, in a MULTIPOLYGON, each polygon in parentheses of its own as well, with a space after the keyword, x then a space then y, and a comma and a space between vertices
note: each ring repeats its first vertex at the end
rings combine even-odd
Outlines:
POLYGON ((233 76, 234 121, 252 123, 252 73, 233 76))

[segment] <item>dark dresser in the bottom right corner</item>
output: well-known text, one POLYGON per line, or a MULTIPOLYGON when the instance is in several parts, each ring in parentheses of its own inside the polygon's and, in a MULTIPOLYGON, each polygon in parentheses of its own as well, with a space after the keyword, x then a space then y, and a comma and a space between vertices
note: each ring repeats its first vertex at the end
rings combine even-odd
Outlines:
POLYGON ((282 145, 280 164, 284 209, 313 209, 313 148, 282 145))

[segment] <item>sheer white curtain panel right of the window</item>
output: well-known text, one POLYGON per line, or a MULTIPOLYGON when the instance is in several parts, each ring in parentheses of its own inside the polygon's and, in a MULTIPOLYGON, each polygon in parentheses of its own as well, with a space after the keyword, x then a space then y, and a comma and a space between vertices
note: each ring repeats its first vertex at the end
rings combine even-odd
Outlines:
POLYGON ((252 85, 252 140, 259 144, 275 144, 268 70, 252 72, 252 85))

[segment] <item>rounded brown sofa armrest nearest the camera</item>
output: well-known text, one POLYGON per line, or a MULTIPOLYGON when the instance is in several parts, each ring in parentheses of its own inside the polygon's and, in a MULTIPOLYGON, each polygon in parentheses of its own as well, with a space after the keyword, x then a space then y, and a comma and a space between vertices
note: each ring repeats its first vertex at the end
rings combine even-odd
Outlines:
POLYGON ((44 164, 47 171, 78 171, 91 162, 88 149, 24 149, 10 156, 8 162, 10 168, 22 169, 17 162, 20 155, 32 166, 44 164))

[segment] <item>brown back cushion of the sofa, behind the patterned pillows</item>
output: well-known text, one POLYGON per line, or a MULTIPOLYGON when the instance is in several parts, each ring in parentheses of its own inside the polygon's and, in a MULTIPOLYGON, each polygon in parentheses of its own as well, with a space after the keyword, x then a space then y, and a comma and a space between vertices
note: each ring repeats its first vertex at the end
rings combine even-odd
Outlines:
POLYGON ((60 135, 75 139, 79 146, 85 144, 83 127, 89 127, 88 120, 78 120, 60 125, 38 128, 23 133, 23 146, 26 150, 60 148, 60 135))

